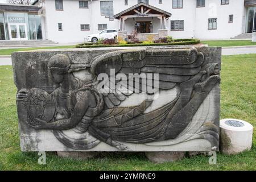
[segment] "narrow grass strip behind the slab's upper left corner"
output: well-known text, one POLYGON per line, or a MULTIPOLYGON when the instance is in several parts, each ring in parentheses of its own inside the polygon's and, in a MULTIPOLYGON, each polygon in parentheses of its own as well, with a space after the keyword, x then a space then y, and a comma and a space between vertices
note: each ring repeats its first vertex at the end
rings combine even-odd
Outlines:
POLYGON ((12 49, 0 49, 0 55, 11 55, 17 51, 31 51, 36 49, 60 49, 60 48, 76 48, 76 46, 53 46, 53 47, 27 47, 27 48, 12 48, 12 49))

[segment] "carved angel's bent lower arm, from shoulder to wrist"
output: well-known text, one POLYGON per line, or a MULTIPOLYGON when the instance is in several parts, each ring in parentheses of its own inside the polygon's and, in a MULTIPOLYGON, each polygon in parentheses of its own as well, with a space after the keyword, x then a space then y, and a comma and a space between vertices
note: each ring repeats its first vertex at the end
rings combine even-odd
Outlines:
POLYGON ((38 125, 33 126, 35 129, 51 129, 51 130, 68 130, 76 127, 76 125, 81 121, 82 117, 86 113, 86 110, 89 107, 88 102, 90 100, 89 92, 78 92, 76 94, 76 105, 73 109, 73 113, 71 117, 68 119, 60 119, 53 123, 47 123, 40 119, 36 119, 38 121, 38 125))

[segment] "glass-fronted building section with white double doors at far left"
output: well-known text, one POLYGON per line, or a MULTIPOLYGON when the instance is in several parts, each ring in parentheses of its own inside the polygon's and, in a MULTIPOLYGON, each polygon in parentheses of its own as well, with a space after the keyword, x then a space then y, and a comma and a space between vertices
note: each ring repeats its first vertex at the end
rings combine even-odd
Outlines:
POLYGON ((0 4, 0 40, 41 40, 41 7, 0 4))

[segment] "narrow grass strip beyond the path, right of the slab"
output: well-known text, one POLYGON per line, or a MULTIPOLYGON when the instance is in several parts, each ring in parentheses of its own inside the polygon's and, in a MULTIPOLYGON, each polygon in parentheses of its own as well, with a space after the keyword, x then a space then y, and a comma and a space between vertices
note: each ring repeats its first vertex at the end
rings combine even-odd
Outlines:
POLYGON ((256 42, 251 42, 251 40, 205 40, 201 41, 203 44, 208 44, 209 46, 256 46, 256 42))

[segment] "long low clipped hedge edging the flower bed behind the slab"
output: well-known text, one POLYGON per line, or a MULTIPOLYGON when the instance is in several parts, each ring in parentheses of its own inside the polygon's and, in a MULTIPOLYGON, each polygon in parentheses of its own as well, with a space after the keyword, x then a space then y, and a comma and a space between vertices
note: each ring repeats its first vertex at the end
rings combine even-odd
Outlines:
POLYGON ((113 44, 113 45, 104 45, 104 44, 92 44, 92 43, 82 43, 76 45, 76 48, 94 48, 94 47, 137 47, 137 46, 179 46, 179 45, 193 45, 199 44, 199 39, 175 39, 171 43, 152 43, 152 44, 113 44))

